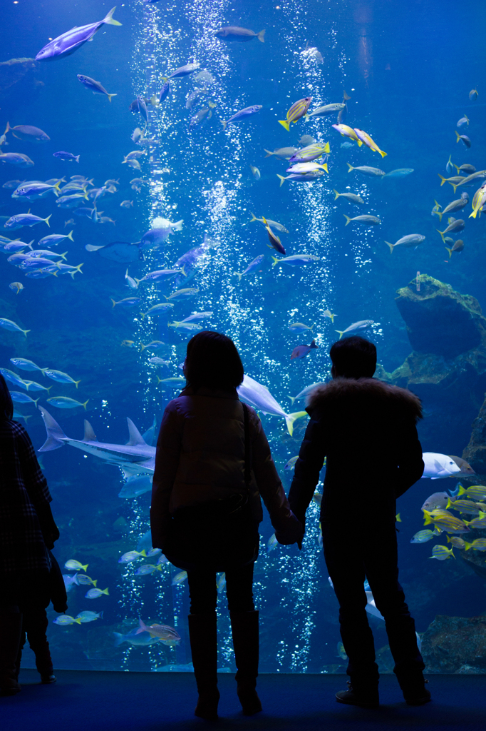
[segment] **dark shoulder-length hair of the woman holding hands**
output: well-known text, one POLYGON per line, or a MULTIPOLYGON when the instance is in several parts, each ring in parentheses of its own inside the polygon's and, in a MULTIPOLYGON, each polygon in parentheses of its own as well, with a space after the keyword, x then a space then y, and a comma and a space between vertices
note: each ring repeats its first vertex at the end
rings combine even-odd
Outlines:
POLYGON ((188 386, 232 390, 243 380, 242 359, 231 338, 203 330, 188 342, 184 363, 188 386))

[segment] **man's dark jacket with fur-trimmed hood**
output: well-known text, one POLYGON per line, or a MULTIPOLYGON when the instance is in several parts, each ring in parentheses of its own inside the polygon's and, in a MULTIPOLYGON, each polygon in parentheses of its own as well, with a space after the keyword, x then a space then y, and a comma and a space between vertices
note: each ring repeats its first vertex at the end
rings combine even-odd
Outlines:
POLYGON ((372 378, 337 378, 309 395, 311 419, 296 462, 290 507, 304 525, 326 461, 321 519, 379 531, 395 520, 396 498, 423 474, 416 423, 420 399, 372 378))

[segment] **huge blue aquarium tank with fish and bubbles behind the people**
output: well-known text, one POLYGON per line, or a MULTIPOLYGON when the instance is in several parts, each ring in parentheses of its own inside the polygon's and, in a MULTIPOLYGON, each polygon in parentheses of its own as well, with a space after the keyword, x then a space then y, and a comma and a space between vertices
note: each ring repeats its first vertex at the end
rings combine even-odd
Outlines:
MULTIPOLYGON (((376 377, 420 396, 427 476, 397 504, 401 581, 426 671, 485 672, 485 4, 110 11, 2 4, 0 367, 61 531, 72 621, 48 610, 55 667, 191 670, 187 580, 152 549, 149 505, 163 410, 207 329, 274 398, 259 415, 287 492, 337 338, 371 339, 376 377)), ((261 672, 345 672, 321 492, 301 551, 261 523, 261 672)), ((343 541, 346 515, 344 495, 343 541)), ((233 672, 224 582, 218 666, 233 672)))

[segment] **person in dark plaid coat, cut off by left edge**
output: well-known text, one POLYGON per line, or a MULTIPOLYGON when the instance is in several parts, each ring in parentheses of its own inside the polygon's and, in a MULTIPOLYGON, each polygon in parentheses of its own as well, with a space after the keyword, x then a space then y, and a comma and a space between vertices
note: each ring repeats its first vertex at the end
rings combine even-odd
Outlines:
POLYGON ((59 531, 52 500, 28 433, 13 420, 0 374, 0 694, 20 691, 18 649, 23 606, 45 592, 59 531), (46 545, 47 544, 47 545, 46 545))

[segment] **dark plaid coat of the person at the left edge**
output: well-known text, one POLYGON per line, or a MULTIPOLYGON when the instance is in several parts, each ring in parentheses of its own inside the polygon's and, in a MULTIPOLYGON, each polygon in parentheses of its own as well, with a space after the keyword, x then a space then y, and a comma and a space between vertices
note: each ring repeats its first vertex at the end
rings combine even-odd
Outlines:
POLYGON ((50 569, 36 506, 51 501, 22 425, 0 421, 0 575, 50 569))

